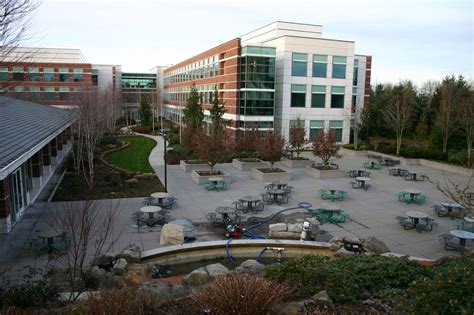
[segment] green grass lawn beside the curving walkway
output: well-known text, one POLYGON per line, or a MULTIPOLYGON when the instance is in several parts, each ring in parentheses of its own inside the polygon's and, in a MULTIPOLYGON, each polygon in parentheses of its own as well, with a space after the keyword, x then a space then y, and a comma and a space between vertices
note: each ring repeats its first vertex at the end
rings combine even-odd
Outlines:
POLYGON ((122 137, 120 140, 130 142, 130 145, 108 154, 105 157, 108 163, 135 173, 155 172, 148 162, 150 152, 156 146, 155 140, 141 136, 122 137))

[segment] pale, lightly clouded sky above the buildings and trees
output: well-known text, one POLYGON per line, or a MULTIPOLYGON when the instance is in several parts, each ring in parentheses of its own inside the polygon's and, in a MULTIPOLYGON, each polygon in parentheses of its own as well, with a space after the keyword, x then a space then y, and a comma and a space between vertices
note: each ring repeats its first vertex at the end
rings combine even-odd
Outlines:
POLYGON ((27 46, 78 48, 123 71, 171 65, 274 21, 323 25, 371 55, 372 84, 473 79, 470 0, 42 0, 27 46))

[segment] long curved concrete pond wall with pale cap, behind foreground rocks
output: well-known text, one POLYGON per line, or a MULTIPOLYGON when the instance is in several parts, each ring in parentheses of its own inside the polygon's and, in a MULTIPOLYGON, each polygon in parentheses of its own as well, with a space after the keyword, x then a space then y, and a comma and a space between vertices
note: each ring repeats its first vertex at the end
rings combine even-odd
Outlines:
MULTIPOLYGON (((173 265, 215 259, 227 255, 226 243, 223 240, 159 247, 143 251, 140 260, 142 263, 173 265)), ((232 240, 230 253, 235 258, 255 259, 267 246, 284 248, 283 260, 309 254, 334 257, 335 253, 329 243, 291 240, 232 240)), ((265 257, 276 258, 276 254, 268 251, 265 257)))

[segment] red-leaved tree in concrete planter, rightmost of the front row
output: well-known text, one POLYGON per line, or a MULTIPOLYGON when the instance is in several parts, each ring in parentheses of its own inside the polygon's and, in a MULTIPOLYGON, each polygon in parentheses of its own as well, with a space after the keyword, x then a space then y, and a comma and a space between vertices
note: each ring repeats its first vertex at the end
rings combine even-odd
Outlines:
POLYGON ((340 158, 339 148, 332 132, 321 131, 313 141, 313 155, 319 157, 322 163, 307 166, 307 174, 319 179, 344 177, 344 171, 339 169, 339 165, 329 162, 331 158, 340 158))

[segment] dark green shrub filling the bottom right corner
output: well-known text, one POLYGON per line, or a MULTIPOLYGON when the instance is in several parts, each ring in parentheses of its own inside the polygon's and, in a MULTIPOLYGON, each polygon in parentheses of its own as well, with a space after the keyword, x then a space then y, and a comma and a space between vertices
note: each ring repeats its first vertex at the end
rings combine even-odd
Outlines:
POLYGON ((459 258, 413 281, 400 307, 407 313, 473 314, 474 261, 459 258))

